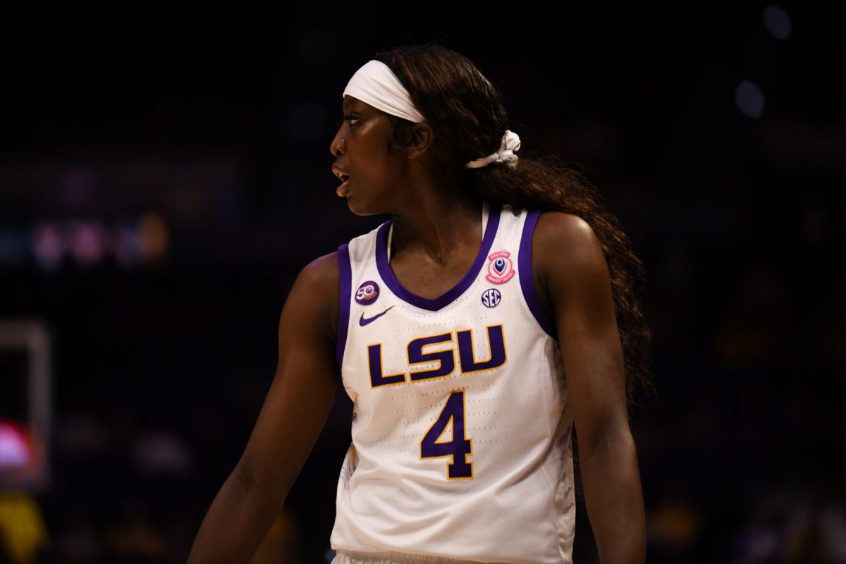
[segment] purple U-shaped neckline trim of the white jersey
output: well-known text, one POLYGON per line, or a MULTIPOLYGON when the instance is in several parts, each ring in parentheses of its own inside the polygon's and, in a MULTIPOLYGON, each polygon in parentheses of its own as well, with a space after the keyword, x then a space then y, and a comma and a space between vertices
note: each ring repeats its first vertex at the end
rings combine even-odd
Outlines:
POLYGON ((493 244, 493 238, 497 235, 500 211, 500 208, 491 206, 487 215, 485 237, 482 239, 481 248, 479 249, 479 254, 476 255, 476 258, 473 261, 473 266, 470 266, 470 270, 467 271, 464 277, 459 280, 455 286, 450 288, 441 296, 434 299, 418 296, 416 293, 411 293, 406 290, 402 284, 399 283, 397 277, 393 276, 391 266, 387 264, 387 230, 391 227, 391 220, 382 223, 382 227, 379 227, 379 231, 376 233, 376 267, 379 269, 379 276, 382 277, 382 280, 387 284, 387 287, 391 288, 391 291, 395 293, 398 298, 408 302, 409 304, 416 305, 418 308, 428 309, 429 311, 437 311, 438 309, 442 309, 449 304, 452 304, 455 298, 458 298, 467 290, 468 287, 470 287, 470 284, 472 284, 475 278, 479 275, 481 267, 484 266, 488 252, 491 250, 491 245, 493 244))

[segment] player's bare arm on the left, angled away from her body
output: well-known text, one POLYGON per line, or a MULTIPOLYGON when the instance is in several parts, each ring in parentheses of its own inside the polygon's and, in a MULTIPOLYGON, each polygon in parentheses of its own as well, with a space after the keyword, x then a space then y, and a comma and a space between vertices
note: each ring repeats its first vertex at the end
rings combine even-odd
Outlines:
POLYGON ((206 513, 189 564, 249 561, 326 424, 339 371, 338 258, 299 272, 279 318, 276 375, 232 474, 206 513))

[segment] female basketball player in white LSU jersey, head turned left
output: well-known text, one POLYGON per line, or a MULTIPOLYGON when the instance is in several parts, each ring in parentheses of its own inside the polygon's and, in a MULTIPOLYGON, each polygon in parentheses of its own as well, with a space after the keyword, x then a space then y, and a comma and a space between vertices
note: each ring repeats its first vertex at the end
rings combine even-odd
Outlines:
POLYGON ((595 189, 518 164, 497 90, 437 45, 377 54, 343 119, 338 195, 392 219, 300 271, 276 376, 189 561, 249 560, 339 382, 354 413, 336 562, 571 561, 574 433, 602 562, 644 561, 627 408, 647 381, 643 271, 595 189))

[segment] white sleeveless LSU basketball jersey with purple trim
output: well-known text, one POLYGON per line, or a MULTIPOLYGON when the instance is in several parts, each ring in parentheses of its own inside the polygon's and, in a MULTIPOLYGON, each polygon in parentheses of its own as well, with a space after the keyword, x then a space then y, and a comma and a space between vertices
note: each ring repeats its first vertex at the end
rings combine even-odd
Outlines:
POLYGON ((338 363, 354 402, 339 553, 571 561, 573 416, 532 284, 539 215, 484 202, 473 266, 434 299, 393 275, 390 220, 338 248, 338 363))

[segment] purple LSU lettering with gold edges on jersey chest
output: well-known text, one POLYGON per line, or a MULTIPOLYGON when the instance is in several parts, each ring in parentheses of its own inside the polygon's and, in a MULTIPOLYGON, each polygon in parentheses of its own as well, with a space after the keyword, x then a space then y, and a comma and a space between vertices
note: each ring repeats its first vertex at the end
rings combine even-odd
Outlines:
MULTIPOLYGON (((480 370, 492 370, 505 364, 507 356, 505 353, 505 339, 503 337, 503 326, 487 326, 488 350, 491 355, 487 360, 477 361, 473 353, 473 333, 470 329, 455 331, 459 343, 459 363, 461 374, 479 372, 480 370)), ((427 345, 443 342, 453 342, 453 332, 431 335, 428 337, 417 337, 408 346, 409 366, 429 362, 437 362, 437 368, 429 370, 409 371, 411 381, 431 380, 451 375, 455 371, 455 350, 445 348, 431 353, 423 352, 427 345)), ((391 386, 402 384, 406 381, 406 373, 385 375, 382 373, 382 343, 367 345, 367 361, 370 368, 371 387, 391 386)))

